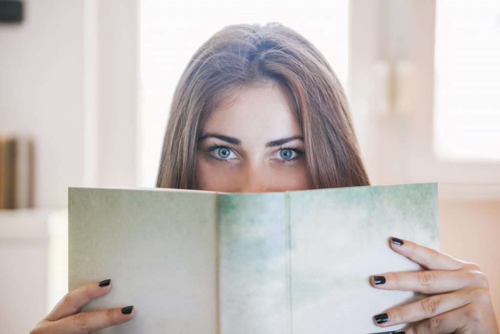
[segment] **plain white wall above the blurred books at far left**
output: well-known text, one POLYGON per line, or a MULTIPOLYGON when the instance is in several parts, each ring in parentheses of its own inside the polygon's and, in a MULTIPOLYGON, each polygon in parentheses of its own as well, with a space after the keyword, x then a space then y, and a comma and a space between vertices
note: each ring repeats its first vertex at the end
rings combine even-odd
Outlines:
POLYGON ((83 180, 83 1, 28 0, 0 25, 0 133, 35 143, 37 206, 62 206, 83 180))

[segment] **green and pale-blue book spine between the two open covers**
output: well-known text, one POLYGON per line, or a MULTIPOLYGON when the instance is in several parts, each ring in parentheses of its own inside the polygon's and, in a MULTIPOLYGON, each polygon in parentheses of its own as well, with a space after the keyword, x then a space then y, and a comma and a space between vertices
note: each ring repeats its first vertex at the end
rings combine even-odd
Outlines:
POLYGON ((284 193, 219 194, 221 334, 289 333, 284 193))

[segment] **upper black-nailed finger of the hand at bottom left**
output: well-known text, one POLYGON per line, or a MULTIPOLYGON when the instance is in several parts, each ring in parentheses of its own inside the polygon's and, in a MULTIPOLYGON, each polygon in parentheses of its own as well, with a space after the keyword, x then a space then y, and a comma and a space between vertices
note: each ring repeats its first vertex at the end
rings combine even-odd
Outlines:
POLYGON ((64 297, 54 306, 52 311, 45 317, 46 320, 55 321, 65 316, 76 314, 81 306, 91 299, 109 292, 111 280, 105 279, 100 282, 88 283, 66 293, 64 297))

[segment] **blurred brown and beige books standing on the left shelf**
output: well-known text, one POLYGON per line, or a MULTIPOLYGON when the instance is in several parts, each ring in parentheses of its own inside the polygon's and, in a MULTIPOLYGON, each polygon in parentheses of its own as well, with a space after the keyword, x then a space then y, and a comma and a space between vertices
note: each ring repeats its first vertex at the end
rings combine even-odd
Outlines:
POLYGON ((33 207, 33 143, 0 135, 0 209, 33 207))

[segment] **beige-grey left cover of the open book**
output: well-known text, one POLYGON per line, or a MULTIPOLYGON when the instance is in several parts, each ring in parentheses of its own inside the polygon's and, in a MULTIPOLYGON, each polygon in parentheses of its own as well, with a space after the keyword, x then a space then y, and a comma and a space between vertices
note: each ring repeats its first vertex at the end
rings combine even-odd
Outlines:
POLYGON ((134 305, 116 334, 217 332, 216 193, 69 188, 69 290, 111 278, 84 310, 134 305))

